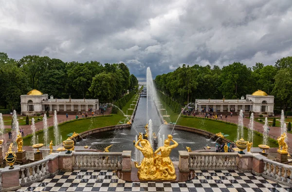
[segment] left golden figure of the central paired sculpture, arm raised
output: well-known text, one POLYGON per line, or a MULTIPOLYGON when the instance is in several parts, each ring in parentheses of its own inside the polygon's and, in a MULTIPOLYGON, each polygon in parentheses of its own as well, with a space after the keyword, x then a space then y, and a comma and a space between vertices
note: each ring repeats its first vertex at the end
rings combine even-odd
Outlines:
POLYGON ((156 167, 154 164, 153 149, 148 140, 143 139, 142 134, 139 134, 138 141, 135 147, 144 155, 141 164, 135 162, 135 167, 138 168, 138 178, 140 180, 157 180, 156 167), (141 144, 141 146, 139 145, 141 144))

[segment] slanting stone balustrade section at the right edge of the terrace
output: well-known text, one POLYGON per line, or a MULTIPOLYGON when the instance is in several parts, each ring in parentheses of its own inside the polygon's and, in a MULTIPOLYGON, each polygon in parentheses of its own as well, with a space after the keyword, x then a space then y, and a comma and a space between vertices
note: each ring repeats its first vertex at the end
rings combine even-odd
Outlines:
POLYGON ((264 172, 262 177, 273 180, 277 183, 282 183, 292 187, 292 166, 276 161, 272 161, 268 158, 263 159, 264 172))

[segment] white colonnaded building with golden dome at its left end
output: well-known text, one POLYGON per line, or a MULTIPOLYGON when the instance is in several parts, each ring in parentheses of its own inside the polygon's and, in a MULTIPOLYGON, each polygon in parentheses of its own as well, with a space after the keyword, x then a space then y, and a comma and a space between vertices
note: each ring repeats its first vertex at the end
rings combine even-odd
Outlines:
POLYGON ((85 112, 99 109, 98 99, 57 99, 40 91, 32 90, 27 95, 20 96, 21 115, 36 115, 45 111, 85 112))

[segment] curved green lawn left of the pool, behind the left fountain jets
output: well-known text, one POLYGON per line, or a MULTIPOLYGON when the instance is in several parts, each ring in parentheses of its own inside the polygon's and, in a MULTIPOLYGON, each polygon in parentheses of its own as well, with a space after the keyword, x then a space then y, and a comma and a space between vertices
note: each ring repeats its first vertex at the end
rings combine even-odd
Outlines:
MULTIPOLYGON (((72 120, 72 121, 67 121, 65 123, 61 123, 59 127, 59 133, 62 135, 62 140, 66 140, 68 138, 67 134, 76 132, 76 133, 81 133, 89 129, 94 129, 94 128, 100 128, 100 127, 106 127, 106 126, 112 126, 112 125, 117 125, 119 121, 121 121, 123 118, 125 118, 122 115, 119 114, 112 114, 109 116, 94 116, 94 117, 88 117, 88 118, 82 118, 78 120, 72 120)), ((39 131, 36 133, 38 135, 38 142, 39 143, 44 143, 43 140, 43 131, 39 131)), ((54 129, 53 127, 49 128, 48 131, 48 141, 54 139, 54 129)), ((31 142, 31 135, 28 135, 26 137, 23 137, 23 145, 29 146, 31 142)), ((55 143, 54 143, 55 145, 55 143)))

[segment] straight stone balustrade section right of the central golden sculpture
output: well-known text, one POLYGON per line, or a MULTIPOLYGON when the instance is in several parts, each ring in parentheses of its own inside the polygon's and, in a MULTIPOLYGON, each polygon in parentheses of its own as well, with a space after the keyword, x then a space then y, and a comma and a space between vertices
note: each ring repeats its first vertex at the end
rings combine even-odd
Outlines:
POLYGON ((190 170, 237 170, 237 153, 189 153, 190 170))

